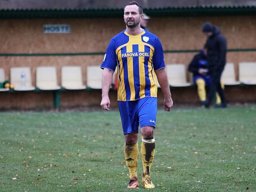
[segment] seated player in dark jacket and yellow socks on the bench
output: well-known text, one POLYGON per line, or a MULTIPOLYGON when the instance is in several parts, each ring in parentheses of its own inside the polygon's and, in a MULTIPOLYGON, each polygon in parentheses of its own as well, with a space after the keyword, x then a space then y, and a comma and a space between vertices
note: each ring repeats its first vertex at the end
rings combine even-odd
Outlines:
MULTIPOLYGON (((208 75, 207 68, 207 49, 206 45, 204 49, 200 51, 199 54, 195 55, 193 60, 190 62, 188 66, 188 71, 193 73, 193 82, 197 86, 197 93, 199 97, 199 102, 204 106, 204 101, 206 100, 206 90, 205 85, 210 86, 212 78, 208 75)), ((221 87, 224 89, 224 84, 221 83, 221 87)), ((221 100, 218 92, 216 92, 216 103, 215 107, 220 106, 221 100)))

